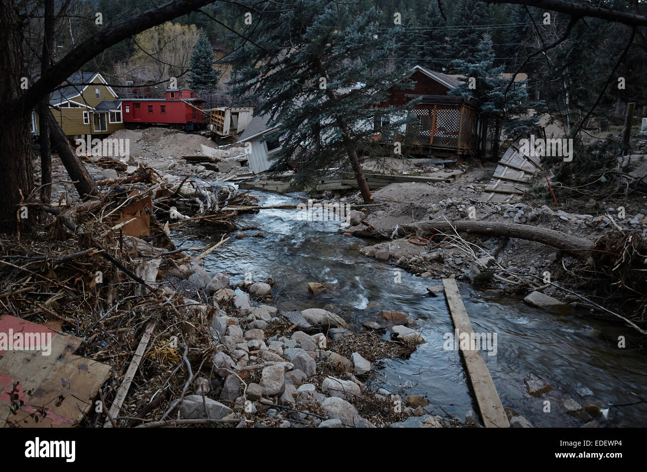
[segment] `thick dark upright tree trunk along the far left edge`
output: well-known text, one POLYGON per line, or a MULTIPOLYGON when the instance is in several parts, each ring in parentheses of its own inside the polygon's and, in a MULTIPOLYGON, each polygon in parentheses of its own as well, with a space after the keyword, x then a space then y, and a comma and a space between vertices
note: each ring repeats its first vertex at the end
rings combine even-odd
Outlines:
MULTIPOLYGON (((0 0, 0 103, 17 100, 22 94, 23 43, 21 21, 12 0, 0 0)), ((3 120, 0 126, 0 231, 15 233, 21 200, 34 188, 31 159, 31 108, 3 120)), ((35 223, 31 215, 23 222, 35 223)))

